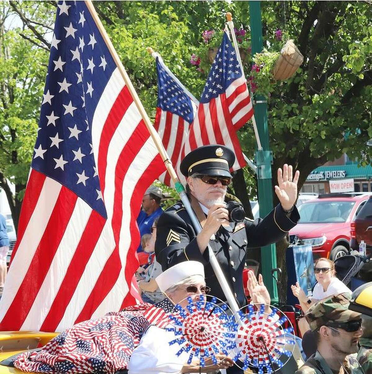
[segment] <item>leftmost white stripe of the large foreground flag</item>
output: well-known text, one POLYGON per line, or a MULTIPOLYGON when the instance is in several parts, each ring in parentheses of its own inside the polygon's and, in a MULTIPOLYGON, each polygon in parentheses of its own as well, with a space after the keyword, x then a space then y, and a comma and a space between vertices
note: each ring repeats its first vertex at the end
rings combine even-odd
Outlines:
POLYGON ((12 260, 7 275, 6 287, 0 303, 0 321, 4 318, 10 304, 22 284, 24 276, 30 267, 31 261, 43 236, 45 227, 57 202, 61 190, 61 184, 51 178, 46 178, 40 191, 30 221, 22 236, 21 243, 12 260))

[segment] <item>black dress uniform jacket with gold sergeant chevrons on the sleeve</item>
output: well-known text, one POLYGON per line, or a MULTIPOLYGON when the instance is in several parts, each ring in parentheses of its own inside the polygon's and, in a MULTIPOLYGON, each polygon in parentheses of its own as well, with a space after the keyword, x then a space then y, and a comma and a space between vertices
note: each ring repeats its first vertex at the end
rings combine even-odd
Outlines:
MULTIPOLYGON (((197 216, 200 217, 200 212, 197 216)), ((241 223, 221 226, 215 234, 215 238, 212 237, 209 240, 227 282, 241 306, 245 305, 243 269, 247 248, 261 247, 277 242, 292 227, 296 226, 299 218, 296 206, 294 206, 290 217, 287 217, 279 204, 264 219, 257 218, 252 221, 247 218, 241 223)), ((155 255, 163 271, 183 261, 194 260, 203 263, 206 285, 211 288, 210 294, 226 301, 209 263, 208 250, 203 254, 200 253, 196 241, 196 231, 182 203, 176 203, 160 216, 157 224, 155 255)))

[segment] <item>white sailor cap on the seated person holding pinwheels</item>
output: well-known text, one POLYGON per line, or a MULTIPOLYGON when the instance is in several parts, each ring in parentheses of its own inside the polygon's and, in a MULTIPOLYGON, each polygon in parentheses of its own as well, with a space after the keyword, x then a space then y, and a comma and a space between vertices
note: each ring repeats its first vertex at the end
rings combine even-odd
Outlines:
POLYGON ((165 292, 168 288, 192 275, 201 275, 204 278, 204 266, 201 262, 180 262, 158 275, 155 281, 158 283, 160 291, 165 292))

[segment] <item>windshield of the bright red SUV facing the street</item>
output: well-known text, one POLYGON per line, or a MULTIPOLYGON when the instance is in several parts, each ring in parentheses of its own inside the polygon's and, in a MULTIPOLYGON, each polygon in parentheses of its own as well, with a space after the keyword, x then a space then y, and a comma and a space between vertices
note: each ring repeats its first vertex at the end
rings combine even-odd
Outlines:
POLYGON ((299 207, 300 223, 346 222, 354 201, 316 201, 299 207))

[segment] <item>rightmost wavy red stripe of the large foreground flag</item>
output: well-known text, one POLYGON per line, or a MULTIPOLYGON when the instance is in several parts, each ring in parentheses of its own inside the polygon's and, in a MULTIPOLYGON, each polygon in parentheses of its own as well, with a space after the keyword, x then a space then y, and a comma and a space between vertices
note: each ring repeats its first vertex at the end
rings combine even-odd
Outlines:
MULTIPOLYGON (((142 174, 142 176, 139 178, 136 187, 134 188, 133 194, 131 196, 130 201, 130 211, 132 213, 138 211, 138 202, 142 199, 143 194, 145 193, 146 186, 149 186, 154 181, 154 176, 158 174, 159 170, 164 169, 164 163, 161 159, 160 154, 157 154, 157 156, 152 160, 150 165, 147 167, 145 172, 142 174)), ((137 212, 138 215, 138 212, 137 212)), ((137 217, 136 215, 136 217, 137 217)), ((130 233, 131 237, 133 238, 134 233, 137 233, 137 223, 136 220, 130 221, 130 233)), ((136 258, 134 256, 136 250, 138 248, 138 243, 136 243, 134 240, 130 243, 130 248, 127 254, 127 258, 136 258)), ((127 261, 125 264, 125 280, 127 284, 131 284, 131 279, 133 277, 133 274, 138 269, 139 262, 136 261, 127 261)), ((133 296, 128 292, 127 296, 124 298, 123 306, 129 306, 133 304, 133 296), (130 300, 130 296, 132 297, 132 300, 130 300)))

